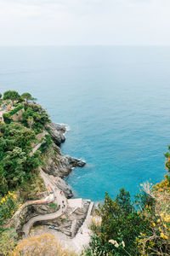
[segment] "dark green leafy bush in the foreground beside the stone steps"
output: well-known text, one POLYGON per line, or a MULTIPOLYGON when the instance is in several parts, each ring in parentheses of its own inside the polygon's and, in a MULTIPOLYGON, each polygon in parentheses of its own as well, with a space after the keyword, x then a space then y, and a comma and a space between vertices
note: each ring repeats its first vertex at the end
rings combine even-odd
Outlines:
POLYGON ((96 211, 101 216, 101 224, 93 224, 94 236, 87 255, 137 255, 139 248, 136 238, 141 232, 150 229, 149 223, 140 212, 136 212, 130 201, 129 192, 124 189, 116 200, 105 194, 105 203, 96 211), (116 241, 116 246, 110 241, 116 241), (125 247, 122 247, 122 241, 125 247), (91 253, 91 254, 90 254, 91 253))

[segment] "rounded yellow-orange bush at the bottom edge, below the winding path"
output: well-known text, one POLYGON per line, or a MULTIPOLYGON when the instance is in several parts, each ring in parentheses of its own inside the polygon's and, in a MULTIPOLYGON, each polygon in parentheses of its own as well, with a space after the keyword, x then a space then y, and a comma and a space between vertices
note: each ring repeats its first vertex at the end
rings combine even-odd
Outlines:
POLYGON ((20 241, 13 253, 11 253, 11 256, 18 255, 76 256, 76 253, 71 253, 62 248, 56 237, 47 233, 42 234, 41 236, 31 236, 20 241))

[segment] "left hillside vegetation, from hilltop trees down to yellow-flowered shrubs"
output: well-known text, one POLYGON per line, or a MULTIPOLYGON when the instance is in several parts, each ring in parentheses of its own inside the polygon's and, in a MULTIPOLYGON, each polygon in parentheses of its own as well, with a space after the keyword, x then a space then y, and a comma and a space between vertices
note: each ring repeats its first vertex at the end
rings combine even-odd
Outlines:
POLYGON ((30 94, 20 96, 14 90, 6 91, 1 100, 5 113, 4 122, 0 123, 0 253, 4 255, 16 245, 14 230, 8 230, 5 225, 20 206, 17 191, 26 199, 42 187, 38 166, 42 163, 42 153, 52 143, 48 135, 37 141, 37 134, 44 131, 50 120, 46 111, 31 100, 30 94), (18 119, 14 120, 14 115, 18 119), (32 154, 37 143, 42 143, 42 147, 32 154))

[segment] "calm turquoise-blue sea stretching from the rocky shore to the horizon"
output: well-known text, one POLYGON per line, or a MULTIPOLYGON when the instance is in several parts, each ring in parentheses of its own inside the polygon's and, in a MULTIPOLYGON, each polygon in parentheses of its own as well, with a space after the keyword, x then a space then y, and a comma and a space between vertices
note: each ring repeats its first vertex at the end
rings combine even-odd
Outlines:
POLYGON ((67 178, 93 201, 161 181, 170 143, 170 48, 0 48, 0 92, 29 91, 71 127, 64 154, 87 161, 67 178))

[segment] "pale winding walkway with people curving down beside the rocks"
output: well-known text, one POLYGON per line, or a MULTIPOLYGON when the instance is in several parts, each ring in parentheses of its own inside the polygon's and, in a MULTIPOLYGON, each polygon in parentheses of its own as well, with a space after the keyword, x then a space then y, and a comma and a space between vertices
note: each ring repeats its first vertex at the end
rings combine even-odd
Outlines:
POLYGON ((38 215, 34 218, 31 218, 23 227, 23 232, 25 233, 25 236, 29 236, 31 226, 35 224, 37 221, 42 221, 42 220, 49 220, 49 219, 54 219, 54 218, 59 218, 66 210, 67 208, 67 200, 65 198, 65 195, 63 193, 60 193, 60 190, 56 187, 56 185, 48 178, 48 176, 42 172, 41 170, 41 176, 44 180, 44 183, 46 186, 50 186, 52 189, 52 194, 54 195, 54 202, 56 202, 60 207, 57 212, 54 213, 48 213, 45 215, 38 215))

